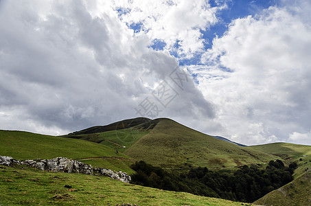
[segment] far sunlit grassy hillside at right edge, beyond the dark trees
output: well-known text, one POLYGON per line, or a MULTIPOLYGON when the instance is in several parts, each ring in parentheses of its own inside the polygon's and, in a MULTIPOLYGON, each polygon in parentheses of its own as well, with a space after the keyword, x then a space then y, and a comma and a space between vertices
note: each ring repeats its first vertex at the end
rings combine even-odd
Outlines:
POLYGON ((306 172, 307 168, 311 168, 311 146, 290 143, 273 143, 251 146, 251 148, 277 155, 283 158, 286 163, 296 161, 298 168, 294 173, 295 178, 306 172))

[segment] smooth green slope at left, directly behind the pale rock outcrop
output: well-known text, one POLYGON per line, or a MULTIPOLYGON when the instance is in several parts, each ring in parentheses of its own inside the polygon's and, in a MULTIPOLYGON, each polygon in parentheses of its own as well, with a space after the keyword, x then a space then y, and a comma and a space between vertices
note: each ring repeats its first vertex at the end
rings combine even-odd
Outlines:
MULTIPOLYGON (((102 144, 81 139, 70 139, 39 135, 21 131, 0 130, 0 155, 14 159, 52 159, 67 157, 82 159, 86 157, 119 157, 120 159, 95 159, 94 166, 107 167, 113 162, 112 170, 132 173, 128 167, 129 157, 102 144), (121 159, 124 158, 124 159, 121 159)), ((91 163, 91 160, 82 160, 91 163)))

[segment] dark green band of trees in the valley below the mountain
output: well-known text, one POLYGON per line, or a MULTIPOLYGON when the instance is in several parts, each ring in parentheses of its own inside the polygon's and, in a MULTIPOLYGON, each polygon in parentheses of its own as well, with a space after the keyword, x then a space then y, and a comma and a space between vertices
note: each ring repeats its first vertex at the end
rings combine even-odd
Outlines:
POLYGON ((280 160, 270 161, 266 169, 244 165, 234 174, 200 167, 185 173, 167 172, 143 161, 136 162, 132 168, 136 174, 133 174, 131 183, 137 185, 246 203, 253 203, 289 183, 294 171, 294 168, 284 166, 280 160))

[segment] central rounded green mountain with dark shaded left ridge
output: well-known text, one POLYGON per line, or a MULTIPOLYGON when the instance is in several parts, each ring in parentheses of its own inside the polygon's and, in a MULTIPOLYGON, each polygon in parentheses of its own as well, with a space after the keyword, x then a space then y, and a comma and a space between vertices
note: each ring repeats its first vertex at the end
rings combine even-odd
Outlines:
POLYGON ((167 118, 126 119, 107 126, 87 128, 65 137, 104 144, 133 159, 163 168, 225 168, 266 163, 277 158, 266 152, 238 146, 229 140, 205 135, 167 118))

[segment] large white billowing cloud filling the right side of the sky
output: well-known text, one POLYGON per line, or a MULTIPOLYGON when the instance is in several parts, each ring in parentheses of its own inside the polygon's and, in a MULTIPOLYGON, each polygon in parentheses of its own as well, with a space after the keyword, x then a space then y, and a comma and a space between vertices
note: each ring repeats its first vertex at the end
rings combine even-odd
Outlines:
POLYGON ((303 18, 310 8, 285 2, 235 19, 203 55, 206 66, 192 67, 205 99, 218 106, 223 135, 260 144, 310 130, 311 22, 303 18))

